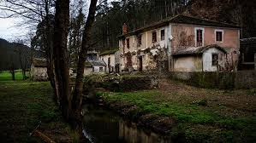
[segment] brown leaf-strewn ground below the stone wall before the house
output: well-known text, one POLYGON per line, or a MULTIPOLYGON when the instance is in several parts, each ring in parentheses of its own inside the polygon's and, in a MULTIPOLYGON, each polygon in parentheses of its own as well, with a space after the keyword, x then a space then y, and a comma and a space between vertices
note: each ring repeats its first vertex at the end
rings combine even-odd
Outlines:
POLYGON ((183 104, 206 100, 208 107, 216 109, 216 107, 224 106, 220 111, 224 114, 256 113, 256 89, 200 89, 184 83, 167 80, 160 81, 159 89, 166 95, 168 100, 179 101, 183 104))

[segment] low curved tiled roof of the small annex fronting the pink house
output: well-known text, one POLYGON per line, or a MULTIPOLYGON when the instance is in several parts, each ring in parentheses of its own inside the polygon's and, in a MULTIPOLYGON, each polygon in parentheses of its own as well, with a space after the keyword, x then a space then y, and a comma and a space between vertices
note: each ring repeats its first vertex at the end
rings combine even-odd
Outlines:
POLYGON ((205 47, 188 47, 188 48, 185 48, 185 49, 178 50, 172 55, 203 54, 205 52, 205 50, 212 49, 212 48, 216 48, 216 49, 219 49, 219 50, 223 51, 223 53, 227 53, 227 51, 225 49, 218 46, 217 44, 211 44, 211 45, 208 45, 208 46, 205 46, 205 47))

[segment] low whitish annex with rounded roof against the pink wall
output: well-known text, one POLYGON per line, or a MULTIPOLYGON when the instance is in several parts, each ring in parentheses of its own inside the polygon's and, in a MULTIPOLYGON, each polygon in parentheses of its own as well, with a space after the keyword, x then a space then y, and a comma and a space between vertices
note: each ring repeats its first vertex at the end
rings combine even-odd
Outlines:
POLYGON ((225 70, 226 50, 217 44, 177 50, 173 72, 217 72, 225 70))

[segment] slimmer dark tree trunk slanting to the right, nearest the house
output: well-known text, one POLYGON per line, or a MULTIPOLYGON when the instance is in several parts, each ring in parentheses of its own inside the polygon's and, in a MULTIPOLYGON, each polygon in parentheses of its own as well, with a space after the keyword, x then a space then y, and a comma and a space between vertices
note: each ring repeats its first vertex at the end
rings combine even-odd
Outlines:
POLYGON ((90 33, 91 33, 92 24, 95 17, 94 15, 96 10, 96 4, 97 4, 97 0, 91 0, 89 14, 88 14, 86 25, 83 31, 79 61, 78 61, 77 70, 76 70, 77 76, 76 76, 75 86, 74 86, 72 109, 77 119, 80 119, 80 106, 81 106, 81 96, 82 96, 82 89, 83 89, 83 77, 84 77, 83 74, 84 74, 86 54, 87 54, 87 44, 89 43, 89 40, 90 40, 90 33))

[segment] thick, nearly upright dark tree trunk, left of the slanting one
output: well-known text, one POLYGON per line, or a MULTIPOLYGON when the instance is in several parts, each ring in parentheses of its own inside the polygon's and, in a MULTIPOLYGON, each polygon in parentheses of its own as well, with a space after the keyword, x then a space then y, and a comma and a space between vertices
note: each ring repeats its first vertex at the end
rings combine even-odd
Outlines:
POLYGON ((68 72, 68 24, 69 24, 69 0, 56 1, 55 26, 53 37, 53 52, 55 72, 57 76, 57 93, 60 96, 60 107, 63 117, 70 122, 71 94, 69 89, 68 72))

